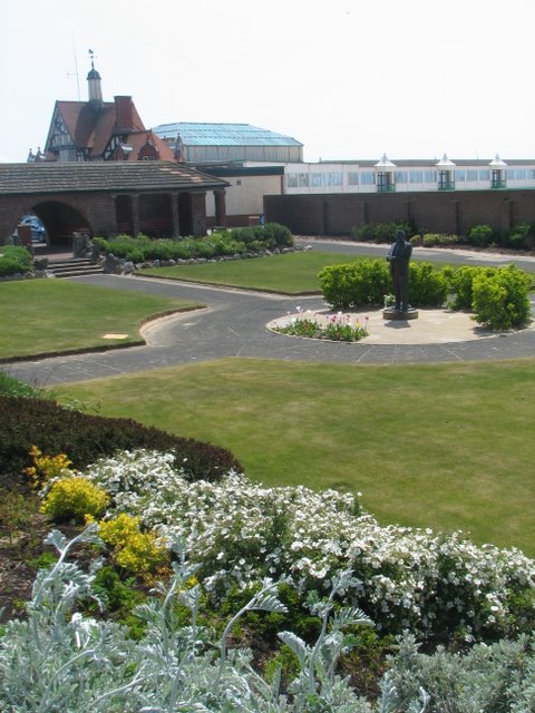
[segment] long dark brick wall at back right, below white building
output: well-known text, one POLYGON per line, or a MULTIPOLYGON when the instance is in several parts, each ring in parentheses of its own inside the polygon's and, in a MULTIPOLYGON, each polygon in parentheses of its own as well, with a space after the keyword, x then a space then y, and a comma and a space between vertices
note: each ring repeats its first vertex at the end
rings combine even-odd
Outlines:
POLYGON ((466 235, 485 223, 509 229, 535 223, 535 191, 264 196, 268 221, 301 235, 349 235, 367 223, 414 223, 417 229, 466 235))

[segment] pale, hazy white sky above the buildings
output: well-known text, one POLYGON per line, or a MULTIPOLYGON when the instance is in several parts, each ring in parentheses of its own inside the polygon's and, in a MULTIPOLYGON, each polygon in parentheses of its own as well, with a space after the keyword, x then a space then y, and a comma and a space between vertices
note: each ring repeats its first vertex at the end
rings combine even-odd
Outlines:
POLYGON ((307 162, 535 158, 534 0, 0 0, 0 162, 55 101, 243 123, 307 162))

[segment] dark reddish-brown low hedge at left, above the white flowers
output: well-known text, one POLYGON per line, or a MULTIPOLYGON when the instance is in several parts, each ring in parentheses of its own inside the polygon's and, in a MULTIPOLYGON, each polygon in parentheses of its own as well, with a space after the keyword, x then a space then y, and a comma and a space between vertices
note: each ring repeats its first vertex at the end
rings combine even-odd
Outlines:
POLYGON ((20 481, 22 470, 32 465, 32 446, 50 456, 66 453, 78 469, 117 450, 147 448, 174 453, 175 466, 183 468, 191 480, 214 481, 231 469, 243 471, 224 448, 173 436, 132 419, 89 416, 55 401, 23 397, 0 397, 0 473, 13 482, 20 481))

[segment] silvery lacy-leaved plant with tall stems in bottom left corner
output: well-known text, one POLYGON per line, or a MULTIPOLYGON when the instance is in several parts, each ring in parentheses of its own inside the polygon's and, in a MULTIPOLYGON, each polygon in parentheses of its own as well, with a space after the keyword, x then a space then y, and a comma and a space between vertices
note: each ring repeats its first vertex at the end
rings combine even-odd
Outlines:
MULTIPOLYGON (((327 602, 311 600, 321 618, 313 646, 289 632, 281 638, 298 652, 301 673, 290 695, 280 692, 280 676, 266 683, 252 667, 246 651, 227 646, 230 632, 251 609, 283 612, 276 583, 264 580, 261 589, 226 626, 218 641, 197 625, 200 585, 189 586, 195 568, 183 546, 171 584, 159 587, 136 609, 145 624, 138 642, 128 638, 119 624, 84 616, 80 599, 95 598, 91 589, 98 563, 88 573, 68 555, 81 543, 99 544, 93 525, 68 541, 59 531, 47 538, 58 550, 54 566, 39 573, 25 619, 10 621, 0 636, 0 710, 6 713, 381 713, 392 711, 396 690, 387 685, 378 707, 357 697, 349 682, 334 673, 335 661, 351 647, 343 629, 350 624, 371 624, 352 607, 333 613, 334 595, 351 587, 342 573, 327 602), (186 606, 191 624, 179 625, 175 602, 186 606)), ((420 692, 414 696, 415 701, 420 692)), ((412 701, 407 711, 424 711, 412 701), (415 707, 416 705, 416 707, 415 707)))

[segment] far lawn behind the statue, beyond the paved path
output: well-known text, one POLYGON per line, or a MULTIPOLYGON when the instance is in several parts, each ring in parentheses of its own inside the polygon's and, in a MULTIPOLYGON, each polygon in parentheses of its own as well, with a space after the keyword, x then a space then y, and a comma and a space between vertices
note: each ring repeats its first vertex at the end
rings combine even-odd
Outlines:
POLYGON ((318 273, 322 267, 337 263, 350 263, 354 260, 357 258, 351 255, 312 250, 254 260, 152 267, 138 271, 138 274, 285 294, 303 294, 321 292, 318 273))

